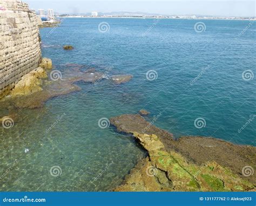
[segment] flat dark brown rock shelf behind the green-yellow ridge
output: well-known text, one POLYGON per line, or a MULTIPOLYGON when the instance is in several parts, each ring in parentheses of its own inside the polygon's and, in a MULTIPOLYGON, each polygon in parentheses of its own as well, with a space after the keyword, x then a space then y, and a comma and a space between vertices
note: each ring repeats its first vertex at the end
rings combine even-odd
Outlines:
POLYGON ((166 152, 179 153, 188 162, 197 166, 206 162, 217 162, 221 167, 231 169, 232 173, 256 186, 253 175, 248 177, 242 175, 242 168, 245 166, 256 168, 256 147, 234 145, 224 140, 201 136, 184 136, 175 140, 171 133, 157 128, 138 114, 117 116, 111 118, 110 122, 118 132, 131 135, 135 133, 157 135, 166 152))

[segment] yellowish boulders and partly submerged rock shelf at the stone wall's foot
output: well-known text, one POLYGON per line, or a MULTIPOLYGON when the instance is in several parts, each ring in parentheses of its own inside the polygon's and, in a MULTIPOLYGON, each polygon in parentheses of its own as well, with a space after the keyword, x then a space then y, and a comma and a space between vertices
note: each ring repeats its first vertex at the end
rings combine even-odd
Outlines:
MULTIPOLYGON (((18 115, 19 109, 34 109, 43 107, 44 103, 54 97, 66 95, 81 90, 75 83, 82 81, 85 84, 97 85, 100 81, 108 79, 103 72, 97 72, 95 68, 82 71, 84 65, 66 64, 64 72, 52 70, 52 61, 43 58, 39 67, 24 75, 15 87, 0 99, 0 108, 5 111, 0 120, 9 117, 15 122, 22 120, 18 115), (75 72, 74 72, 75 71, 75 72)), ((119 75, 115 75, 118 77, 119 75)), ((126 83, 126 75, 121 75, 126 83)), ((130 80, 130 75, 127 75, 130 80)), ((110 78, 110 81, 111 78, 110 78)), ((118 84, 121 84, 118 83, 118 84)), ((117 85, 118 85, 117 84, 117 85)))

